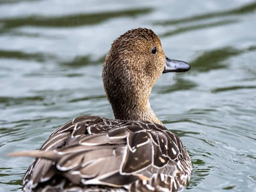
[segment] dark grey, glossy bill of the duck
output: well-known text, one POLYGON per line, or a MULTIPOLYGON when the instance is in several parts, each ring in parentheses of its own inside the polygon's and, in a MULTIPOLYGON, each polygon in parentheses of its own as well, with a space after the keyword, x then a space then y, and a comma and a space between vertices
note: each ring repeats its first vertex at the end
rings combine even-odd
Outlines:
POLYGON ((163 73, 169 73, 169 72, 185 72, 190 70, 190 65, 184 61, 178 61, 169 59, 166 57, 166 63, 163 69, 163 73))

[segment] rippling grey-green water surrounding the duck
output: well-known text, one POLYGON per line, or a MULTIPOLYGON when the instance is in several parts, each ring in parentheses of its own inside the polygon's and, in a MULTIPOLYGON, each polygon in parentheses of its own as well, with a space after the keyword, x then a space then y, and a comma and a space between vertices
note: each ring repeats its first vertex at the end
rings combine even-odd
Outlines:
POLYGON ((256 1, 0 0, 0 192, 21 191, 31 158, 76 116, 113 118, 101 70, 112 41, 147 27, 169 58, 151 107, 181 137, 194 171, 185 191, 256 192, 256 1))

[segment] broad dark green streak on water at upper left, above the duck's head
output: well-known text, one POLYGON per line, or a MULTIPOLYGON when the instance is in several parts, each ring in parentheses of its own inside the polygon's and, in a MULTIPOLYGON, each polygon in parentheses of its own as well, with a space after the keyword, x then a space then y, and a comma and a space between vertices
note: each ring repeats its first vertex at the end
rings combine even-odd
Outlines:
POLYGON ((3 23, 2 29, 11 29, 20 26, 40 27, 75 27, 93 25, 117 17, 136 17, 152 12, 151 8, 127 9, 122 11, 109 11, 101 13, 87 13, 68 16, 44 17, 33 15, 21 18, 0 19, 3 23))

